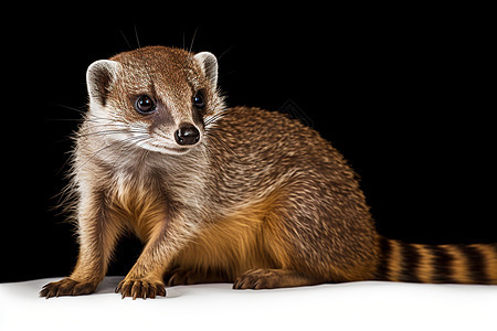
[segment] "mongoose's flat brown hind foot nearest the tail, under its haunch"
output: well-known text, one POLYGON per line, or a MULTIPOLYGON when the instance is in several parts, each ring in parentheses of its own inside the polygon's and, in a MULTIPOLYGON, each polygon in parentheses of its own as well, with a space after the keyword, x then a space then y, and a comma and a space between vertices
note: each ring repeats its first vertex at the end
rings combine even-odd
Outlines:
POLYGON ((322 280, 284 269, 255 269, 240 276, 233 284, 234 289, 271 289, 322 284, 322 280))

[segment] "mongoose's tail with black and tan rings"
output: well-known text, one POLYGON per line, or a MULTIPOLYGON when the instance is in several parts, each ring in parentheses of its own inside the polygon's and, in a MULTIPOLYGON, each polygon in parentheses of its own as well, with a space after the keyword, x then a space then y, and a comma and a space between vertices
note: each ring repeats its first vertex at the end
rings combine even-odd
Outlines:
POLYGON ((380 238, 378 280, 497 284, 497 244, 423 245, 380 238))

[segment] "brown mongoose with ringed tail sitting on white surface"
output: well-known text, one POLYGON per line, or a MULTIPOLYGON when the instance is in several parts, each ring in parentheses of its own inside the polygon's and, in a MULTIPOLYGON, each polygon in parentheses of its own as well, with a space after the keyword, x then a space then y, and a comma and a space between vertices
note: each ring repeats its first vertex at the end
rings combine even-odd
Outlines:
POLYGON ((127 231, 144 250, 116 292, 355 280, 497 284, 497 245, 380 236, 353 170, 317 131, 226 108, 209 52, 147 46, 89 65, 70 209, 80 255, 42 297, 93 292, 127 231))

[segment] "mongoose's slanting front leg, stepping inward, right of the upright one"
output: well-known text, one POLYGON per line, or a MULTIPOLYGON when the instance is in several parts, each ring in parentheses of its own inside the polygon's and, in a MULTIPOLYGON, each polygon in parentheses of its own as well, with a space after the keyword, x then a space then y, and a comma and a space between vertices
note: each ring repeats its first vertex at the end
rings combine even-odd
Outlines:
POLYGON ((154 222, 154 229, 135 266, 117 286, 123 298, 155 298, 166 296, 163 275, 173 257, 197 233, 197 226, 187 217, 167 217, 154 222))

